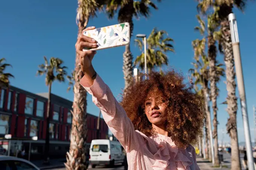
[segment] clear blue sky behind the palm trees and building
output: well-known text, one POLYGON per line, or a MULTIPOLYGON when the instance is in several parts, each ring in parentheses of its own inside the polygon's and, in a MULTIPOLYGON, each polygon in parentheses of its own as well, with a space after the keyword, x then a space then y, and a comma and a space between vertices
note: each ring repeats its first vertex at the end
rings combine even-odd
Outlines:
MULTIPOLYGON (((155 1, 156 2, 156 1, 155 1)), ((193 61, 193 49, 191 42, 200 38, 194 31, 198 25, 195 15, 197 3, 186 0, 185 3, 164 0, 157 3, 158 11, 152 10, 151 17, 140 20, 134 19, 134 34, 149 34, 154 27, 166 30, 174 39, 175 53, 168 53, 169 65, 176 70, 181 70, 186 75, 193 61)), ((44 77, 35 76, 38 65, 44 62, 43 56, 61 58, 69 68, 69 72, 75 65, 75 42, 77 37, 76 1, 45 0, 45 1, 2 1, 0 3, 0 57, 6 58, 13 68, 7 71, 15 76, 11 79, 11 85, 30 91, 32 93, 47 92, 44 77)), ((241 43, 241 57, 244 71, 245 90, 247 97, 248 116, 251 129, 251 138, 256 138, 253 123, 253 105, 256 105, 255 89, 255 39, 256 4, 248 3, 244 14, 236 9, 239 40, 241 43)), ((116 24, 117 18, 109 20, 102 12, 97 18, 90 19, 89 26, 103 27, 116 24)), ((134 36, 131 39, 131 51, 134 58, 140 54, 140 50, 134 44, 134 36)), ((124 87, 122 60, 124 47, 101 50, 93 59, 93 65, 98 74, 119 98, 124 87)), ((219 62, 223 56, 218 56, 219 62)), ((218 103, 225 100, 226 85, 224 80, 219 83, 220 96, 218 103)), ((67 93, 67 83, 53 83, 52 93, 73 100, 73 93, 67 93)), ((238 93, 236 93, 238 96, 238 93)), ((91 96, 87 97, 87 112, 98 115, 99 109, 91 102, 91 96)), ((226 105, 218 105, 218 134, 222 138, 222 129, 226 132, 227 118, 226 105)), ((240 105, 237 114, 239 141, 244 141, 242 115, 240 105)), ((224 141, 229 141, 225 133, 224 141)))

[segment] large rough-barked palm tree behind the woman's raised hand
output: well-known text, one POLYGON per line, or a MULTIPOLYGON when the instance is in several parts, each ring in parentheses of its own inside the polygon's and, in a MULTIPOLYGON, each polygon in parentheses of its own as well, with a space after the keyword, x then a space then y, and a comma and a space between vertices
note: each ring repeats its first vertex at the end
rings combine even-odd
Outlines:
MULTIPOLYGON (((78 24, 78 37, 81 35, 82 30, 88 24, 89 18, 96 16, 96 12, 102 9, 105 0, 78 0, 78 8, 76 15, 76 23, 78 24)), ((70 138, 70 149, 67 152, 67 162, 64 163, 68 170, 73 169, 86 169, 85 155, 86 155, 86 140, 87 140, 87 93, 86 90, 80 85, 80 80, 84 76, 82 73, 79 57, 76 54, 75 59, 75 74, 74 74, 74 101, 73 101, 73 119, 72 130, 70 138)))

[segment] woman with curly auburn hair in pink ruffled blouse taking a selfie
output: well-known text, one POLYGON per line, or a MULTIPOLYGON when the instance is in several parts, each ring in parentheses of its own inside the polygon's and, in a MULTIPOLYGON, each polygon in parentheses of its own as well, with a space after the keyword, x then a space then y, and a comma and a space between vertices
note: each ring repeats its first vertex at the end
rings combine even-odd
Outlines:
POLYGON ((204 116, 192 87, 187 88, 183 77, 174 71, 164 76, 153 72, 146 80, 131 83, 121 106, 91 64, 96 52, 82 51, 96 47, 96 43, 84 35, 77 40, 76 52, 84 73, 80 84, 92 95, 110 131, 125 148, 128 169, 200 170, 190 143, 200 135, 204 116))

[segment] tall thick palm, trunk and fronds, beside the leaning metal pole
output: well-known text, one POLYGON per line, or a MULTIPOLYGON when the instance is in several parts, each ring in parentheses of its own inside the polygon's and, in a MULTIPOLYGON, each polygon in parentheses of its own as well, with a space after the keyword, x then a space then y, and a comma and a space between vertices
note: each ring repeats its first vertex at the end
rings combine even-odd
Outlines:
POLYGON ((226 65, 226 86, 227 86, 227 112, 229 113, 229 119, 227 122, 227 132, 230 136, 230 142, 232 147, 231 153, 231 169, 241 170, 241 162, 239 158, 239 146, 237 135, 237 99, 236 99, 236 82, 235 82, 235 64, 233 58, 232 41, 229 27, 228 15, 232 13, 232 8, 235 5, 241 11, 244 10, 247 0, 202 0, 198 9, 206 14, 208 9, 214 5, 219 7, 218 16, 221 25, 221 45, 224 52, 224 62, 226 65))

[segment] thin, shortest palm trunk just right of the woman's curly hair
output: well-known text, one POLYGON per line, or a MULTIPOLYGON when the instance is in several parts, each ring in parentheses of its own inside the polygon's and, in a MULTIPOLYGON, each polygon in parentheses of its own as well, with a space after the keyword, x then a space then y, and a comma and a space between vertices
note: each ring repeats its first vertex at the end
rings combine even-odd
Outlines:
POLYGON ((212 161, 212 149, 211 149, 211 136, 210 133, 212 133, 212 127, 211 127, 211 118, 210 118, 210 107, 209 107, 209 103, 208 103, 208 88, 207 88, 207 80, 205 80, 204 84, 203 84, 203 92, 204 92, 204 105, 205 105, 205 111, 206 111, 206 120, 207 120, 207 136, 208 136, 208 155, 209 155, 209 161, 212 161))

